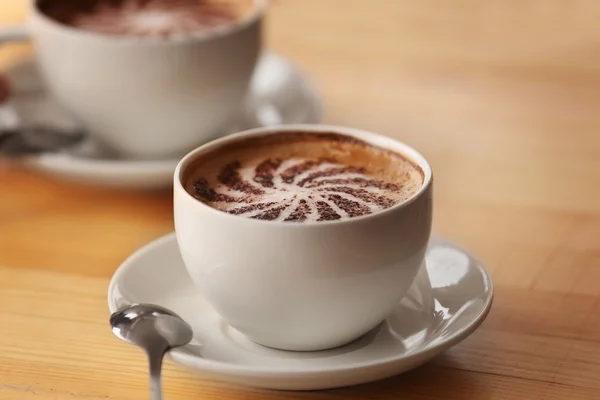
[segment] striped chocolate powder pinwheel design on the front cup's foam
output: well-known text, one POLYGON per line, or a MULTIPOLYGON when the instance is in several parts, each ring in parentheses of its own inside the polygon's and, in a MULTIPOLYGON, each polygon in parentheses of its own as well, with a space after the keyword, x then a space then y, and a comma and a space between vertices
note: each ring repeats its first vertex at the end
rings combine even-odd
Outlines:
POLYGON ((371 179, 362 168, 330 160, 266 159, 256 167, 226 164, 211 187, 195 182, 196 197, 234 215, 266 221, 332 221, 372 214, 397 203, 402 188, 371 179), (386 195, 387 193, 387 195, 386 195))

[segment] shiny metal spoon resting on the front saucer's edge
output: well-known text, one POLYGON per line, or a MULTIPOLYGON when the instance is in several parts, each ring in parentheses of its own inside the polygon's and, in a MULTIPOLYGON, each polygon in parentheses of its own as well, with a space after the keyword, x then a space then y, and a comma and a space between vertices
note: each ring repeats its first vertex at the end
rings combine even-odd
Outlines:
POLYGON ((168 350, 192 340, 192 327, 173 311, 154 304, 123 307, 111 315, 110 325, 117 337, 146 352, 150 364, 150 399, 162 400, 163 357, 168 350))

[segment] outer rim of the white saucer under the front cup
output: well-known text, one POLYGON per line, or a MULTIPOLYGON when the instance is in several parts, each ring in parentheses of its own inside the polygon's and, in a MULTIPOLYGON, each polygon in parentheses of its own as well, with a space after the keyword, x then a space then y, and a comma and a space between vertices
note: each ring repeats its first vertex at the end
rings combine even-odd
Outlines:
MULTIPOLYGON (((119 282, 121 280, 121 276, 124 275, 126 273, 126 271, 128 271, 129 269, 134 268, 133 266, 136 265, 137 260, 139 258, 141 258, 144 254, 146 254, 148 251, 152 251, 152 250, 155 250, 156 248, 160 248, 161 246, 168 244, 171 241, 174 241, 175 242, 174 244, 177 246, 177 238, 176 238, 175 232, 168 233, 166 235, 163 235, 157 239, 154 239, 154 240, 146 243, 146 245, 142 246, 141 248, 137 249, 132 254, 130 254, 129 257, 127 257, 125 259, 125 261, 123 261, 121 263, 121 265, 119 265, 119 267, 115 271, 113 277, 111 278, 111 281, 110 281, 110 284, 108 287, 108 307, 109 307, 109 310, 111 313, 113 313, 117 309, 115 301, 114 301, 116 298, 116 296, 114 296, 114 293, 115 293, 115 289, 117 286, 117 282, 119 282)), ((269 375, 271 377, 284 378, 284 377, 290 376, 290 375, 294 375, 297 377, 299 375, 309 375, 309 374, 315 374, 315 373, 317 373, 317 374, 318 373, 333 373, 333 372, 344 373, 344 372, 351 372, 351 371, 356 371, 356 370, 379 368, 379 367, 383 367, 383 366, 392 366, 399 362, 402 362, 405 364, 406 363, 410 364, 410 362, 417 361, 416 365, 419 365, 420 364, 418 362, 419 358, 422 360, 429 360, 435 354, 441 353, 445 349, 448 349, 448 348, 460 343, 462 340, 466 339, 467 337, 469 337, 483 323, 483 321, 485 321, 486 317, 488 316, 488 314, 491 310, 493 299, 494 299, 494 283, 492 281, 491 275, 489 274, 489 272, 486 270, 486 268, 483 266, 483 264, 477 258, 475 258, 470 252, 463 249, 461 246, 444 238, 441 235, 432 234, 429 242, 431 243, 432 241, 439 242, 441 244, 451 245, 455 249, 460 250, 461 252, 466 254, 469 257, 469 259, 472 261, 472 263, 470 263, 470 264, 474 264, 474 266, 477 268, 477 270, 483 277, 483 279, 488 287, 488 291, 487 291, 487 298, 483 304, 481 312, 478 313, 476 316, 474 316, 473 320, 464 329, 454 332, 453 334, 436 342, 435 344, 433 344, 431 346, 424 346, 421 348, 417 348, 415 351, 410 352, 410 353, 404 353, 404 354, 385 357, 385 358, 376 358, 373 360, 368 360, 368 361, 363 361, 363 362, 356 362, 356 363, 349 364, 347 366, 329 366, 329 367, 327 367, 327 366, 318 366, 318 367, 289 366, 289 367, 282 368, 282 367, 264 367, 264 366, 255 366, 255 365, 240 365, 240 364, 231 363, 231 362, 206 359, 206 358, 203 358, 203 357, 197 356, 197 355, 191 355, 191 354, 185 353, 181 349, 173 349, 172 351, 170 351, 168 353, 168 356, 175 363, 181 364, 183 366, 186 366, 186 367, 189 367, 192 369, 203 369, 203 370, 210 371, 210 372, 213 372, 216 374, 235 375, 238 377, 245 377, 245 378, 251 377, 251 375, 254 375, 254 374, 256 375, 256 377, 259 377, 259 376, 264 377, 265 375, 269 375)), ((283 350, 281 350, 281 351, 283 351, 283 350)), ((423 362, 425 362, 425 361, 423 361, 423 362)), ((412 368, 412 367, 410 367, 410 368, 412 368)), ((407 368, 407 369, 410 369, 410 368, 407 368)))

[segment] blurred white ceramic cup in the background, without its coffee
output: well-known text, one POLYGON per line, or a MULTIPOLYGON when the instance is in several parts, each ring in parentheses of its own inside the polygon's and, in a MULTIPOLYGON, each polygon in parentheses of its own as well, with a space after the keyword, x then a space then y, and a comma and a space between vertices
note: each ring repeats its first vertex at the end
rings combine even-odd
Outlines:
POLYGON ((0 43, 31 36, 50 91, 101 144, 130 158, 181 157, 241 111, 266 8, 254 1, 236 22, 172 38, 76 29, 33 1, 28 26, 3 29, 0 43))

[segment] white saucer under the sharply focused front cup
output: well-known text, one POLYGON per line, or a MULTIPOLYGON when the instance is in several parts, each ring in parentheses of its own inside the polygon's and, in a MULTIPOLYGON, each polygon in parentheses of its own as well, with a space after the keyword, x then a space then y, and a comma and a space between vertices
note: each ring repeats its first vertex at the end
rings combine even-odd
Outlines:
POLYGON ((439 237, 431 240, 426 265, 379 327, 351 344, 320 352, 262 347, 228 327, 193 286, 174 234, 146 245, 119 267, 108 304, 113 312, 130 303, 154 303, 181 315, 193 327, 194 341, 170 356, 203 377, 269 389, 327 389, 421 365, 483 322, 493 296, 485 268, 439 237))

